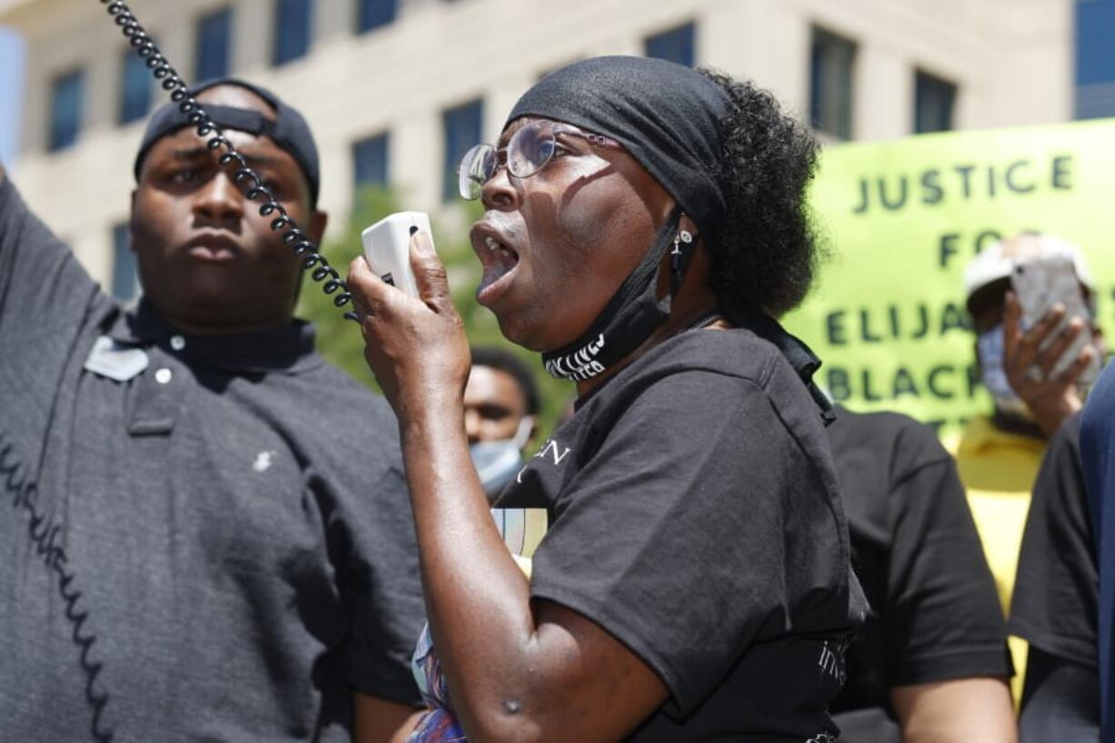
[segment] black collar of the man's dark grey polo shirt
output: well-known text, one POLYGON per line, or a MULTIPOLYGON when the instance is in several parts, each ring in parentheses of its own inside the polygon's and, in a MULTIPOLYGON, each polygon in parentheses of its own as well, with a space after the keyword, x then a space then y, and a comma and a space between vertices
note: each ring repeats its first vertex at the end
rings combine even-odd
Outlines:
POLYGON ((309 322, 292 320, 254 332, 188 334, 164 320, 146 299, 124 313, 108 335, 123 344, 154 344, 191 366, 233 374, 300 374, 322 364, 313 351, 314 331, 309 322))

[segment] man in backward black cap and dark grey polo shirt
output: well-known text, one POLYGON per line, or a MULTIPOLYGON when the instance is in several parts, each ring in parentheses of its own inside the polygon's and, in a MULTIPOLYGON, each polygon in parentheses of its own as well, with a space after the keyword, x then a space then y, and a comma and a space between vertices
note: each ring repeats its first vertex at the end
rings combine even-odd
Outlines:
MULTIPOLYGON (((316 242, 309 128, 198 94, 316 242)), ((125 311, 0 168, 0 721, 12 741, 390 741, 423 626, 390 413, 292 319, 301 270, 173 109, 125 311)))

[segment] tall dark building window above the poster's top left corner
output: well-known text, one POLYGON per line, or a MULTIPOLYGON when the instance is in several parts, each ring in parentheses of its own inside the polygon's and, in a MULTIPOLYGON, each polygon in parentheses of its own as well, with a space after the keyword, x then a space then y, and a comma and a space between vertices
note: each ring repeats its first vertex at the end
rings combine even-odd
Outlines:
POLYGON ((813 29, 809 59, 809 119, 841 139, 852 138, 852 65, 855 42, 813 29))

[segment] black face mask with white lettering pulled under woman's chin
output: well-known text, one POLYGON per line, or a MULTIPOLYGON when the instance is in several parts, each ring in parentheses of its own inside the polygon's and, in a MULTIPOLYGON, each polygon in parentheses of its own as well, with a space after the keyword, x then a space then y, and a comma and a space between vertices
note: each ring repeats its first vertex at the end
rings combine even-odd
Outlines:
MULTIPOLYGON (((656 297, 658 268, 673 245, 680 221, 681 209, 675 208, 642 261, 620 284, 589 329, 568 346, 542 355, 546 372, 571 382, 591 379, 630 355, 666 321, 683 266, 678 266, 670 292, 662 299, 656 297)), ((692 244, 687 245, 687 253, 692 250, 692 244)))

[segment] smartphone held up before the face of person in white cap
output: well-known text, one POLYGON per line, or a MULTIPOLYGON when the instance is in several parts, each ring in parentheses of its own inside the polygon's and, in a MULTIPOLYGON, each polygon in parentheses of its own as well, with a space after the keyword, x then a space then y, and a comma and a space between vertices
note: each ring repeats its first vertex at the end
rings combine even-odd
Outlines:
MULTIPOLYGON (((1080 280, 1076 276, 1073 259, 1067 255, 1051 255, 1031 261, 1016 263, 1010 282, 1015 296, 1022 308, 1022 328, 1028 330, 1045 317, 1054 305, 1065 307, 1061 318, 1054 332, 1041 345, 1043 348, 1056 341, 1074 317, 1084 320, 1084 328, 1076 340, 1061 355, 1053 367, 1051 376, 1063 374, 1073 365, 1080 351, 1092 344, 1092 310, 1084 299, 1080 280)), ((1088 368, 1077 380, 1079 385, 1089 385, 1099 375, 1099 356, 1094 354, 1088 368)))

